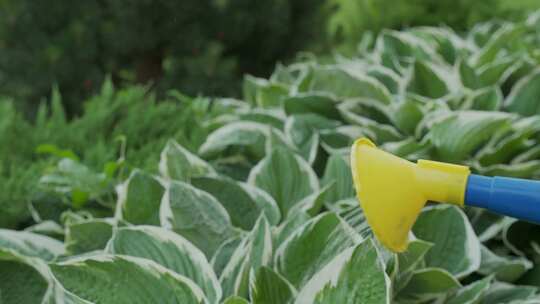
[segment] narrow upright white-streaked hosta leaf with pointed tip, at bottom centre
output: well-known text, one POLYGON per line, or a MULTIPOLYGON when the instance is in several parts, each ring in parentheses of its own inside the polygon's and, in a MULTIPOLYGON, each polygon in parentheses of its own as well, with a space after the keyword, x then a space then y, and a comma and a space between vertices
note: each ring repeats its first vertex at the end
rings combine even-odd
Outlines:
POLYGON ((251 233, 235 249, 221 273, 219 281, 223 288, 223 295, 247 297, 250 273, 269 265, 272 260, 272 251, 270 225, 263 214, 257 220, 251 233))

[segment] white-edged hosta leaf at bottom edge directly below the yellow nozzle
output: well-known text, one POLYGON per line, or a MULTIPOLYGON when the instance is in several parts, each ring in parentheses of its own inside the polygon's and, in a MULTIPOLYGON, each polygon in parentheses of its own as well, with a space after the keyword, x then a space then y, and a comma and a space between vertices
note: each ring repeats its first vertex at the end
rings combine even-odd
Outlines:
POLYGON ((297 304, 390 303, 390 279, 371 239, 343 251, 302 289, 297 304))

